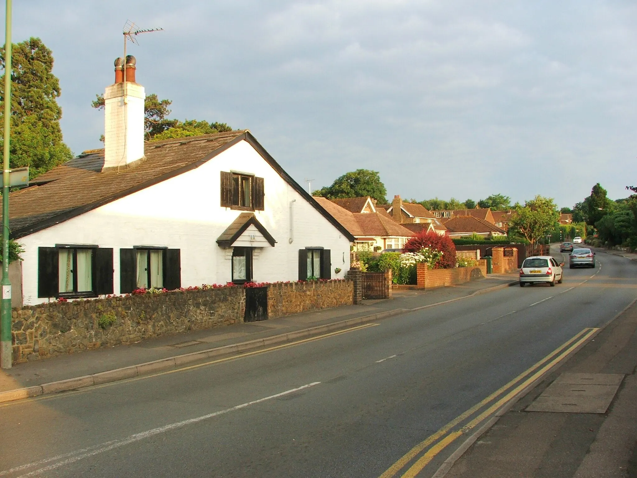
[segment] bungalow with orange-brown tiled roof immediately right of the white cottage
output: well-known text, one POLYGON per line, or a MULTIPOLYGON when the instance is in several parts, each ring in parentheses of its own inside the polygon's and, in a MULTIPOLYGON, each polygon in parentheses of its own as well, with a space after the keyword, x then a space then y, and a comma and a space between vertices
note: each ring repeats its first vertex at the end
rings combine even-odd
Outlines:
POLYGON ((354 236, 354 250, 403 249, 404 243, 415 233, 397 224, 386 213, 351 212, 335 200, 314 198, 323 208, 354 236))

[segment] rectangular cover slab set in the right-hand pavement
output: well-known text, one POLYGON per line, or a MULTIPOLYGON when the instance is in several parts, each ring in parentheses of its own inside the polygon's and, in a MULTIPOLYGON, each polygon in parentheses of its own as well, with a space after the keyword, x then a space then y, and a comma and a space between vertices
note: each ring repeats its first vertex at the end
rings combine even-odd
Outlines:
POLYGON ((562 373, 526 410, 606 413, 623 379, 622 373, 562 373))

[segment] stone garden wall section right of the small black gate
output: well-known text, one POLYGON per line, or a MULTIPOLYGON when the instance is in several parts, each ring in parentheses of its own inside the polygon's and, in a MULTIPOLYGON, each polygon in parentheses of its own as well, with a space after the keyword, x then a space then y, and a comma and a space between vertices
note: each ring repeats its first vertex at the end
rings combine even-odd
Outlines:
POLYGON ((268 286, 268 317, 352 305, 354 281, 284 282, 268 286))

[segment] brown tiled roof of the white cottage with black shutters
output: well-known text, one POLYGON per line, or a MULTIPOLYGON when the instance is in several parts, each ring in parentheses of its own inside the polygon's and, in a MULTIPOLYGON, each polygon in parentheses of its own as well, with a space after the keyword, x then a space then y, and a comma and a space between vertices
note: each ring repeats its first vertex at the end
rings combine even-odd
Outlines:
POLYGON ((86 151, 35 178, 32 184, 36 185, 11 193, 11 236, 29 235, 185 173, 242 140, 248 141, 320 214, 350 236, 347 229, 334 221, 303 187, 283 171, 247 129, 146 143, 145 159, 120 170, 101 171, 104 150, 86 151))

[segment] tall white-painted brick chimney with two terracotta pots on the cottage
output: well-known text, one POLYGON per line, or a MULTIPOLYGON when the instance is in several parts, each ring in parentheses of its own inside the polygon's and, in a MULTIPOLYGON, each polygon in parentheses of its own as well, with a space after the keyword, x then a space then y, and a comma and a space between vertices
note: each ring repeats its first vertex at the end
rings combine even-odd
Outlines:
POLYGON ((126 167, 144 157, 144 87, 135 82, 136 59, 115 60, 115 83, 104 92, 104 166, 126 167), (124 82, 125 77, 125 82, 124 82))

